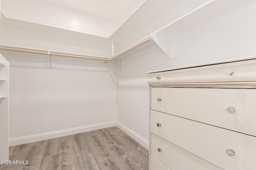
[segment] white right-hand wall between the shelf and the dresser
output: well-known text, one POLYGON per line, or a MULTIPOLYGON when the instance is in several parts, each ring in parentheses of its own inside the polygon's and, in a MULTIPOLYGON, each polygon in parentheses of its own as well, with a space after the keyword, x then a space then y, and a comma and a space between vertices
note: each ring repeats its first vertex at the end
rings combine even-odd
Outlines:
POLYGON ((156 46, 123 59, 118 71, 117 121, 149 140, 147 71, 256 55, 256 5, 250 4, 172 39, 173 59, 156 46))

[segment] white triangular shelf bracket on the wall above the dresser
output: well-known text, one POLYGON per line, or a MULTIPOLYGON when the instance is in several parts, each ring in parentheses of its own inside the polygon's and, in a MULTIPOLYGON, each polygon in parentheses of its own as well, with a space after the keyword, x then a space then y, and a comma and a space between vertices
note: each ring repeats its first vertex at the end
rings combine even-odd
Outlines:
POLYGON ((161 35, 159 33, 151 33, 150 39, 163 51, 165 54, 164 61, 172 59, 172 39, 171 37, 161 35))

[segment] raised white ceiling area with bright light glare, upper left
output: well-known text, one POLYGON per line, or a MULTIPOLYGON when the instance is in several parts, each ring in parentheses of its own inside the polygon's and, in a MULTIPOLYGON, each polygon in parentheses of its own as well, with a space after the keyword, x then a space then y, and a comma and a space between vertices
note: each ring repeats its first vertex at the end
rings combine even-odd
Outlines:
POLYGON ((2 0, 6 18, 110 37, 145 0, 2 0))

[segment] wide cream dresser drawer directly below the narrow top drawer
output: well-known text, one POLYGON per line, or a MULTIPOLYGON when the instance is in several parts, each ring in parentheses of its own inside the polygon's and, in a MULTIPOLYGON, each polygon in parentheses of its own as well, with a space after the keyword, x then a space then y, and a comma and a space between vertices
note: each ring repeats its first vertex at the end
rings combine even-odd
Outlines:
POLYGON ((152 87, 151 109, 256 136, 255 89, 152 87))

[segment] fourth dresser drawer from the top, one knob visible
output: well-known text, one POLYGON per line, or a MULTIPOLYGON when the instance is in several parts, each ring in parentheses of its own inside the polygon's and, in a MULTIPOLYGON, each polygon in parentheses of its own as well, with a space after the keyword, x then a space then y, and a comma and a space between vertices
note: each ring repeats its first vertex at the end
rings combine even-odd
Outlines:
POLYGON ((151 154, 172 170, 222 170, 153 133, 151 134, 151 154), (158 148, 162 151, 158 152, 158 148))

